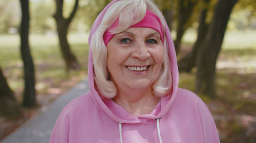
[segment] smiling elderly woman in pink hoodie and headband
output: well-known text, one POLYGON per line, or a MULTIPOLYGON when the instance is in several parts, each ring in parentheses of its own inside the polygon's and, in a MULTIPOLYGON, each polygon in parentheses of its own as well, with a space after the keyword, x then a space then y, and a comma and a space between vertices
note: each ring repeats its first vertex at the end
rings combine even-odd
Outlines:
POLYGON ((173 40, 153 2, 111 2, 89 44, 90 92, 62 110, 50 142, 219 142, 205 104, 178 88, 173 40))

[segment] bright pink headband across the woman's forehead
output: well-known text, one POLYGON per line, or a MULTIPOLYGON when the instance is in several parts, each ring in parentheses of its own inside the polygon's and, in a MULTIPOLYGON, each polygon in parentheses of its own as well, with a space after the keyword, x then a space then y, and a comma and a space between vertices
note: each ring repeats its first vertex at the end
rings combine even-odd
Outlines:
MULTIPOLYGON (((109 29, 112 29, 117 26, 118 26, 118 21, 117 22, 115 21, 114 24, 109 29)), ((150 10, 146 10, 145 17, 140 22, 131 26, 130 28, 133 28, 133 27, 152 28, 160 33, 161 41, 163 42, 163 29, 162 29, 162 25, 161 25, 161 20, 155 13, 151 12, 150 10)), ((104 41, 105 45, 108 44, 108 42, 114 36, 115 36, 115 34, 112 34, 109 30, 106 30, 106 32, 103 35, 103 41, 104 41)))

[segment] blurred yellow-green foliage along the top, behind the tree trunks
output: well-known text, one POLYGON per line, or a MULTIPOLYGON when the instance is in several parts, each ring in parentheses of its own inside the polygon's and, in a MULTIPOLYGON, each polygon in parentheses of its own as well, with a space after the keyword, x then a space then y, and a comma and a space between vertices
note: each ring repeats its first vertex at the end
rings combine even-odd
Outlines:
MULTIPOLYGON (((188 1, 195 0, 184 0, 184 5, 188 1)), ((198 1, 192 16, 190 17, 186 27, 197 28, 198 18, 202 9, 207 8, 208 14, 206 21, 209 23, 212 17, 212 12, 214 11, 214 6, 218 0, 210 0, 209 5, 205 5, 203 0, 198 1)), ((66 0, 63 3, 63 16, 68 17, 74 7, 75 0, 66 0)), ((79 7, 77 13, 70 25, 71 32, 86 32, 89 31, 95 18, 99 12, 108 4, 110 0, 79 0, 79 7)), ((173 27, 177 27, 177 17, 178 13, 178 3, 179 0, 154 0, 158 7, 162 11, 172 11, 173 27)), ((230 17, 230 22, 228 24, 229 30, 236 29, 256 29, 256 1, 244 0, 239 1, 234 7, 234 10, 230 17)), ((53 0, 33 0, 30 1, 30 33, 46 33, 55 32, 56 24, 52 15, 55 12, 55 3, 53 0)), ((20 4, 18 0, 9 0, 0 2, 0 33, 7 33, 8 30, 19 28, 20 23, 20 4)), ((11 31, 10 31, 11 32, 11 31)))

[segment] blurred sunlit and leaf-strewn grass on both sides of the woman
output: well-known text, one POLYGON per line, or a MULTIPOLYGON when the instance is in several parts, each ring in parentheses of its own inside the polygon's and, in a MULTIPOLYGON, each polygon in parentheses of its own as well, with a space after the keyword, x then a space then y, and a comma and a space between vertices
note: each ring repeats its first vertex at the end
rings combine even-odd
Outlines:
MULTIPOLYGON (((217 62, 217 98, 209 99, 200 94, 200 98, 213 114, 222 142, 256 141, 256 31, 229 31, 225 35, 223 47, 217 62)), ((35 71, 37 102, 36 109, 23 109, 24 122, 49 105, 57 95, 87 77, 88 34, 70 34, 69 41, 81 68, 77 71, 65 71, 61 58, 57 35, 31 34, 30 49, 35 71), (29 116, 29 117, 28 117, 29 116)), ((194 31, 188 31, 183 38, 180 55, 184 56, 196 39, 194 31)), ((15 97, 22 102, 23 62, 19 53, 19 35, 0 35, 0 66, 15 97)), ((180 73, 179 86, 194 90, 195 71, 180 73)), ((6 134, 15 124, 0 117, 5 124, 6 134)), ((20 122, 19 124, 22 124, 20 122)), ((2 125, 2 124, 1 124, 2 125)), ((18 126, 18 125, 17 125, 18 126)), ((5 136, 2 135, 2 137, 5 136)), ((1 139, 1 135, 0 135, 1 139)))

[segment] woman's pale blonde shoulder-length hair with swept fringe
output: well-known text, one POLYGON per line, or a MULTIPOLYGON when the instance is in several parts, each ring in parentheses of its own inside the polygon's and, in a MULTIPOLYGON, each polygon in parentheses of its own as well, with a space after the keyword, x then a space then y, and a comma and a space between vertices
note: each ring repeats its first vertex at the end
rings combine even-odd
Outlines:
MULTIPOLYGON (((122 0, 114 3, 106 10, 100 26, 91 39, 91 50, 93 56, 94 80, 99 94, 105 98, 114 98, 117 93, 116 86, 109 78, 109 71, 106 68, 107 50, 103 42, 103 34, 108 29, 112 34, 127 30, 132 25, 141 21, 146 13, 146 9, 155 13, 161 20, 163 33, 165 20, 157 8, 150 0, 122 0), (109 29, 115 20, 119 18, 119 25, 115 29, 109 29)), ((164 34, 164 61, 157 80, 153 83, 154 94, 157 97, 164 96, 172 86, 172 72, 168 58, 168 43, 164 34)))

